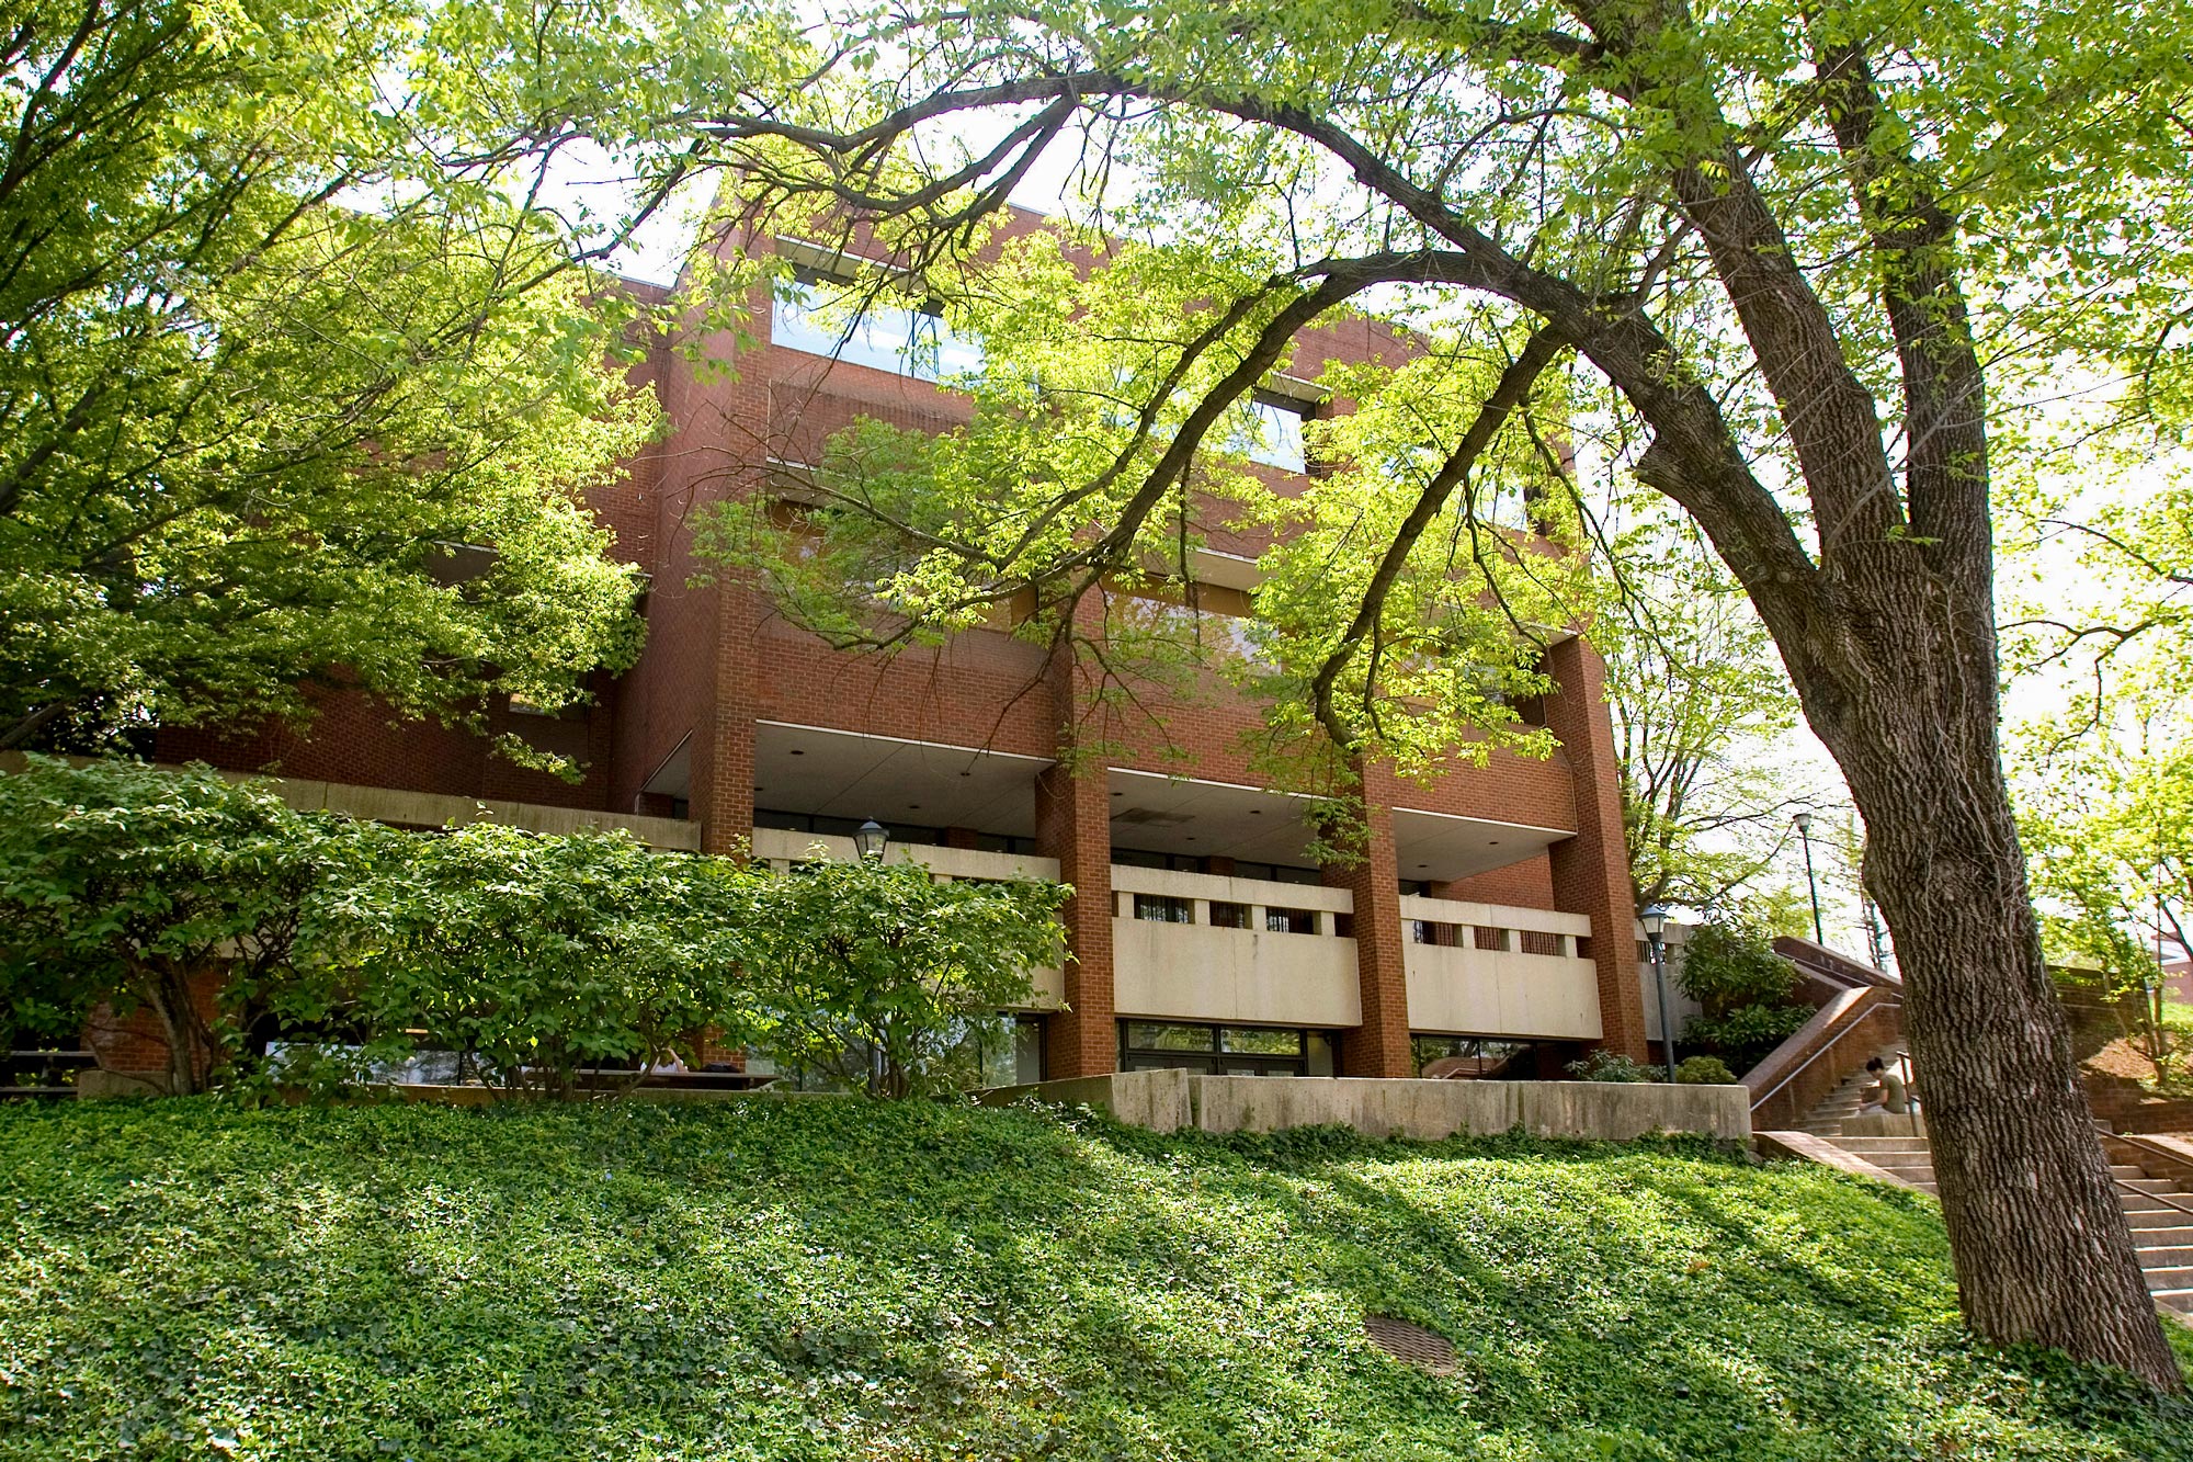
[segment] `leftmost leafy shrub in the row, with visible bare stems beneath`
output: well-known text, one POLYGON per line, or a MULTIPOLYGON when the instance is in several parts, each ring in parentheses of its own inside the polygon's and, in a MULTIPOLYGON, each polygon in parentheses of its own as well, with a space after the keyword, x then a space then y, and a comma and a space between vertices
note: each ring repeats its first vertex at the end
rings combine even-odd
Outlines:
POLYGON ((355 823, 296 812, 208 768, 31 757, 0 775, 0 997, 11 1025, 81 1030, 101 1001, 147 1008, 169 1082, 219 1080, 241 1036, 325 959, 314 893, 355 869, 355 823), (193 981, 226 970, 213 1010, 193 981))

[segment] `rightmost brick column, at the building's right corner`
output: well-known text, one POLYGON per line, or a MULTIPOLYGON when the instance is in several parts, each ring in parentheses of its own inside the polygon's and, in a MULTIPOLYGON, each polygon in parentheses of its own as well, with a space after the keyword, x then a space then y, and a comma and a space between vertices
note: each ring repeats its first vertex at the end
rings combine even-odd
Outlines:
POLYGON ((1592 964, 1599 966, 1599 1045, 1645 1060, 1645 1001, 1636 970, 1636 904, 1623 839, 1621 773, 1607 720, 1607 665, 1581 637, 1546 652, 1555 691, 1546 696, 1546 729, 1568 753, 1577 788, 1577 836, 1550 850, 1553 907, 1592 918, 1592 964))

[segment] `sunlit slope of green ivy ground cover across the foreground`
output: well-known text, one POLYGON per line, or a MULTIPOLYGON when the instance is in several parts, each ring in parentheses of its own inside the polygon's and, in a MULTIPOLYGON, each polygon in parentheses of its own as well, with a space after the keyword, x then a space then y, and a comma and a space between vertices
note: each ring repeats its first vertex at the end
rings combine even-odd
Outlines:
POLYGON ((0 1109, 0 1462, 2193 1458, 1954 1315, 1930 1201, 1704 1146, 0 1109))

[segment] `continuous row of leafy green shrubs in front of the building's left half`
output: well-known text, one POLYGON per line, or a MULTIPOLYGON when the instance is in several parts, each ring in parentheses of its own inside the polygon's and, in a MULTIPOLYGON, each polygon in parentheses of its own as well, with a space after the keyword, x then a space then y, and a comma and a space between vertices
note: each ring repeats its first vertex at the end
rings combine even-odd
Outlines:
POLYGON ((417 1051, 548 1095, 623 1089, 702 1041, 877 1095, 945 1091, 969 1036, 1061 957, 1066 889, 908 863, 752 865, 625 832, 397 832, 268 784, 33 757, 0 775, 0 1034, 147 1005, 178 1091, 344 1087, 417 1051), (217 975, 206 1012, 193 981, 217 975), (629 1076, 590 1076, 623 1071, 629 1076))

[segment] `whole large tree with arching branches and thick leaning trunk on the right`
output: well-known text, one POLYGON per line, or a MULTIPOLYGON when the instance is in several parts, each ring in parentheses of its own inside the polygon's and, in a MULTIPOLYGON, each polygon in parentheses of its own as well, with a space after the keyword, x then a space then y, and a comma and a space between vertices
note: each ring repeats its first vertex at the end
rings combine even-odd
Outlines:
POLYGON ((904 511, 939 498, 899 463, 818 487, 840 520, 899 511, 884 599, 939 626, 1143 571, 1197 529, 1191 468, 1298 331, 1414 312, 1425 356, 1322 382, 1362 406, 1331 428, 1360 470, 1287 498, 1309 547, 1259 595, 1292 621, 1265 645, 1279 716, 1349 755, 1500 724, 1452 665, 1487 639, 1447 617, 1472 630, 1513 577, 1472 525, 1566 371, 1561 411, 1605 411, 1743 584, 1864 817, 1967 1322, 2175 1387, 2004 790, 1989 483, 1996 413, 2066 351, 2147 331, 2182 371, 2156 331, 2186 296, 2186 31, 2180 4, 2099 0, 904 4, 695 138, 743 178, 741 224, 873 224, 985 329, 987 415, 936 448, 941 509, 904 511), (1050 149, 1101 204, 1101 233, 1061 235, 1107 268, 1042 244, 978 268, 1050 149), (1099 369, 1042 356, 1066 325, 1099 369))

